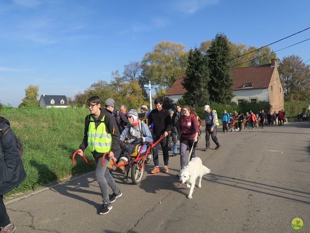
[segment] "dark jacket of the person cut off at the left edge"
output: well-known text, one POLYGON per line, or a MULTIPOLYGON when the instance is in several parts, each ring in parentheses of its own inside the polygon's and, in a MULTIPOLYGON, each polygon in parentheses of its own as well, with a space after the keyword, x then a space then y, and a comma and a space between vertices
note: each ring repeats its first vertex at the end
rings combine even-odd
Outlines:
MULTIPOLYGON (((0 117, 0 130, 10 122, 0 117)), ((15 136, 9 131, 0 140, 0 195, 6 194, 26 178, 23 162, 17 154, 15 136)))

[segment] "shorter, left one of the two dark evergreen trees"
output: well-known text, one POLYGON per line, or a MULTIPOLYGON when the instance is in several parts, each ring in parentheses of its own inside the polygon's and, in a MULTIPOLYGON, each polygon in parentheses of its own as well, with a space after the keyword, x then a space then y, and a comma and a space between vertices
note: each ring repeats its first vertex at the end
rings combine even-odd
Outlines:
POLYGON ((206 104, 209 101, 209 80, 208 57, 197 48, 189 50, 186 77, 182 83, 186 89, 184 101, 195 107, 206 104))

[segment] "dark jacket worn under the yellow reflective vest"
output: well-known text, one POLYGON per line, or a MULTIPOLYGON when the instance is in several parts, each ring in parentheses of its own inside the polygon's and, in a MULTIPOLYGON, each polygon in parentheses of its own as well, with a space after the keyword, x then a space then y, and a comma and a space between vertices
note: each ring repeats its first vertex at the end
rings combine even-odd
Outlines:
MULTIPOLYGON (((111 146, 111 151, 113 153, 115 153, 115 151, 119 148, 120 145, 120 132, 118 130, 118 127, 116 125, 116 122, 113 118, 113 116, 110 114, 109 111, 107 111, 106 109, 100 108, 100 116, 98 117, 98 122, 96 122, 96 127, 101 124, 100 120, 103 118, 103 116, 105 116, 105 124, 107 127, 107 132, 110 133, 112 135, 112 146, 111 146)), ((81 145, 79 146, 79 149, 81 150, 85 150, 87 147, 87 139, 88 139, 88 127, 89 127, 89 123, 90 123, 90 115, 87 115, 85 117, 85 128, 84 128, 84 138, 83 141, 81 143, 81 145)), ((95 153, 95 151, 93 152, 95 153)))

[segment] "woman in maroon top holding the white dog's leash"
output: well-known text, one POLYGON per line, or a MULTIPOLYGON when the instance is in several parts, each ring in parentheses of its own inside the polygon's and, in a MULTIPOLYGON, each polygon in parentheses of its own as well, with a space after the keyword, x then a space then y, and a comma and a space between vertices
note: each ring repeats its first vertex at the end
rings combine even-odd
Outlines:
POLYGON ((195 148, 198 141, 199 126, 197 117, 191 106, 185 105, 182 108, 183 115, 180 116, 179 132, 180 132, 180 164, 181 169, 186 166, 186 150, 187 147, 193 147, 190 158, 195 158, 195 148))

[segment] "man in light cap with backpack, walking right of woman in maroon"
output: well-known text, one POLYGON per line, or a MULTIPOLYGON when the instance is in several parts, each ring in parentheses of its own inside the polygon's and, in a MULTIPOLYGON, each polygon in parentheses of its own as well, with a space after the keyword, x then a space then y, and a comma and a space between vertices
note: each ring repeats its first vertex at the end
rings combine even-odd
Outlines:
POLYGON ((218 119, 217 114, 213 110, 211 110, 209 105, 204 106, 205 111, 205 149, 204 151, 210 150, 210 135, 214 143, 217 145, 215 150, 219 149, 221 145, 218 142, 217 139, 217 125, 218 125, 218 119))

